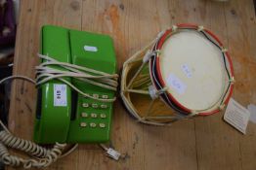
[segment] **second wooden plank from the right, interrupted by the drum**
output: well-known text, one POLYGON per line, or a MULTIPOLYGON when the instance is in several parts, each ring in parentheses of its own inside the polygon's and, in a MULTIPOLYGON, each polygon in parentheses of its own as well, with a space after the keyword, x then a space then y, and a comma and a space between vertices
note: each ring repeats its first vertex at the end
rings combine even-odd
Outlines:
MULTIPOLYGON (((206 2, 202 21, 205 26, 214 30, 229 51, 232 51, 233 47, 228 44, 224 5, 206 2)), ((209 118, 195 119, 199 169, 241 169, 238 147, 238 138, 241 134, 224 123, 223 114, 224 112, 209 118)))

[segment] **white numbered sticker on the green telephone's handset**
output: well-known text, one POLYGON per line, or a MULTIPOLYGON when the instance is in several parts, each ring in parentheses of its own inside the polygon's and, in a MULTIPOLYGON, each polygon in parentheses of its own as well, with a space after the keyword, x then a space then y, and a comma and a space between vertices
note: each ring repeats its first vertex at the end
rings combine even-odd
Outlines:
POLYGON ((66 85, 54 84, 54 106, 66 105, 66 85))

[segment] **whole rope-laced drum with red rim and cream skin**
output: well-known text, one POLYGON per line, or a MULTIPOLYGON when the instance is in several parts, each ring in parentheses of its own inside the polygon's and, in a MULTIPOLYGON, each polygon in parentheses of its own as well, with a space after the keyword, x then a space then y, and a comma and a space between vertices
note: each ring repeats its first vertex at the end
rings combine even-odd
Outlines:
POLYGON ((127 60, 121 79, 129 113, 142 122, 166 124, 220 112, 232 95, 234 71, 229 52, 213 33, 180 24, 127 60))

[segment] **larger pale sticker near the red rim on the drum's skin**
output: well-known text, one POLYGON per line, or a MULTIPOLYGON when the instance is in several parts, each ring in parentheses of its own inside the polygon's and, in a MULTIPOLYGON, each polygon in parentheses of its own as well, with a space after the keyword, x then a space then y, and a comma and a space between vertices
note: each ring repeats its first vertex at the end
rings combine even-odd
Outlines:
POLYGON ((167 85, 171 86, 173 89, 175 89, 179 94, 183 94, 187 88, 187 85, 185 85, 178 77, 176 77, 174 74, 170 74, 167 78, 167 85))

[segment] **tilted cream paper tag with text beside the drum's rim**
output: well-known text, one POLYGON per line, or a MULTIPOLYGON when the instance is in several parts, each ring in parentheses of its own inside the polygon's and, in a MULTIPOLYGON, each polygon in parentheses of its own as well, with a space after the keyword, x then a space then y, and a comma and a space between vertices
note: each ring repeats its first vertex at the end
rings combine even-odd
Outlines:
POLYGON ((224 119, 245 134, 249 118, 250 112, 231 98, 224 114, 224 119))

